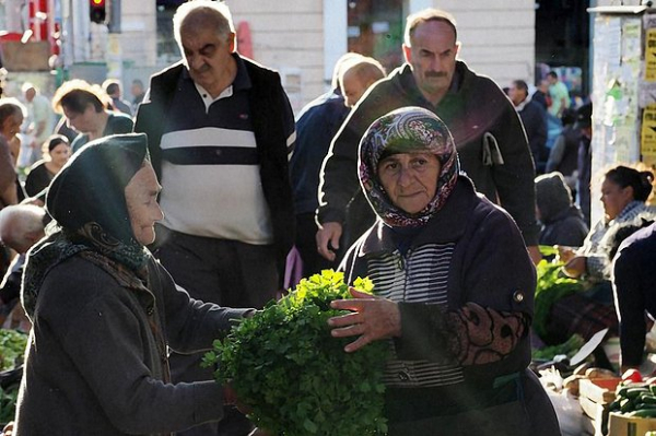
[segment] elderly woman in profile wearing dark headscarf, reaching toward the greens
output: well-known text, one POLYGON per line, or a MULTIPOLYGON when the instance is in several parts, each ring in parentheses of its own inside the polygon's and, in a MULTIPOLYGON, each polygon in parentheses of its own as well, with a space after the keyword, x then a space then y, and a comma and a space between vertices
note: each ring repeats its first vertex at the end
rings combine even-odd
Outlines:
POLYGON ((144 134, 92 142, 52 180, 56 226, 23 278, 34 328, 16 434, 167 434, 220 420, 234 400, 211 380, 171 382, 167 346, 210 349, 251 309, 190 298, 153 259, 159 190, 144 134))

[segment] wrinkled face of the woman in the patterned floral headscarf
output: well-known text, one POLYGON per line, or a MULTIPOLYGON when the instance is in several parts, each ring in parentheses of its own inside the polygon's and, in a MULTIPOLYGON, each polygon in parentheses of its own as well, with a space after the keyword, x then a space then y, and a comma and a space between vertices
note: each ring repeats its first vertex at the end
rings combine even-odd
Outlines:
POLYGON ((378 178, 397 208, 419 213, 435 197, 441 169, 432 153, 399 153, 378 163, 378 178))

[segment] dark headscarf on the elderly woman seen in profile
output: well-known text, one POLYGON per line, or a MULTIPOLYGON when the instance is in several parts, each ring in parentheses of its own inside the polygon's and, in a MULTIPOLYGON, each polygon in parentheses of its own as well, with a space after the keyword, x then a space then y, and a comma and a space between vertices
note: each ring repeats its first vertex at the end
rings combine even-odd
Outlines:
POLYGON ((48 271, 80 251, 136 272, 145 266, 149 251, 134 238, 125 189, 148 160, 147 145, 143 133, 105 137, 80 149, 55 176, 46 197, 54 222, 48 237, 30 250, 23 276, 27 315, 48 271))

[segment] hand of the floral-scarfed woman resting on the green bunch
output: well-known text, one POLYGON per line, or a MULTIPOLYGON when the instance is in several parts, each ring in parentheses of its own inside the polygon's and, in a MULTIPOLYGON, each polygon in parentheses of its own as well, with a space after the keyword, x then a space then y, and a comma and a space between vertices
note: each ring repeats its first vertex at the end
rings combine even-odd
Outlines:
POLYGON ((353 287, 350 291, 353 299, 336 299, 330 303, 330 307, 352 313, 328 320, 328 325, 333 328, 331 334, 335 338, 359 337, 344 346, 347 353, 379 339, 401 335, 401 313, 395 302, 355 291, 353 287))

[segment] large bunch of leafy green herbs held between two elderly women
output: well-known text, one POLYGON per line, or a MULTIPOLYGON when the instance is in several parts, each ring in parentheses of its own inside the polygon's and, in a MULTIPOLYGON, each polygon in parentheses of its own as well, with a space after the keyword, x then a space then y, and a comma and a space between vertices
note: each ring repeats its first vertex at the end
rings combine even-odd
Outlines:
MULTIPOLYGON (((368 279, 355 288, 371 293, 368 279)), ((249 417, 280 436, 366 436, 387 431, 383 417, 383 366, 389 344, 378 341, 354 353, 354 338, 330 335, 330 308, 350 298, 343 274, 331 270, 304 279, 296 290, 244 319, 214 342, 206 365, 218 365, 219 382, 231 381, 249 417)))

